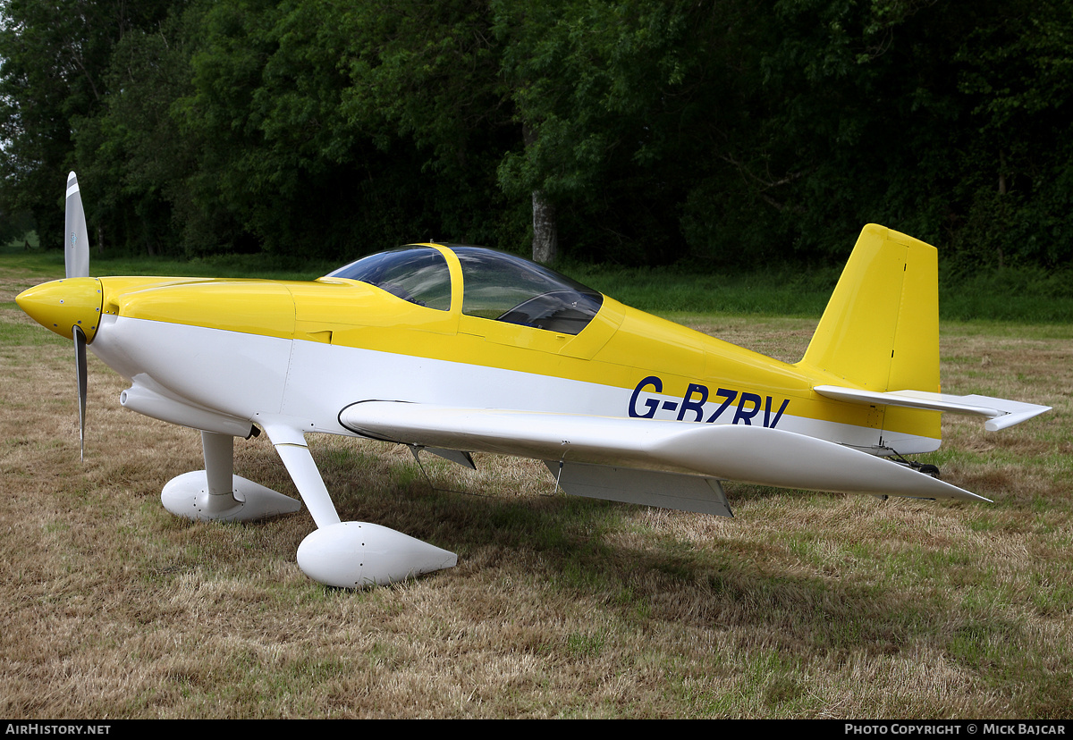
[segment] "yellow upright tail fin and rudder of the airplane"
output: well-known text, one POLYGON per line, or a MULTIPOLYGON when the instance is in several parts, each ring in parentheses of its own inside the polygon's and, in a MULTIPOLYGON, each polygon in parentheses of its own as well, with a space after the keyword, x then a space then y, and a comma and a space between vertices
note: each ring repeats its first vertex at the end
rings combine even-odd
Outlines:
POLYGON ((884 226, 865 226, 800 365, 868 390, 937 393, 935 247, 884 226))

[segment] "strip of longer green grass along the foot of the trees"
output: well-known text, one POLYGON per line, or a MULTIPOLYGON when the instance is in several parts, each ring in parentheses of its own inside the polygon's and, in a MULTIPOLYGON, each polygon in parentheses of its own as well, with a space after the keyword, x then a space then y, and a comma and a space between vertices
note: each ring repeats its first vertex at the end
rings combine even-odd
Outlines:
MULTIPOLYGON (((21 240, 0 247, 0 277, 61 277, 63 255, 21 240)), ((357 255, 355 255, 356 257, 357 255)), ((339 265, 271 254, 222 254, 194 260, 90 255, 92 275, 166 275, 208 278, 313 280, 339 265)), ((748 314, 819 319, 840 268, 697 273, 681 267, 621 268, 568 264, 561 270, 627 306, 671 317, 748 314)), ((1073 268, 1047 272, 1006 267, 975 273, 941 271, 943 321, 1073 323, 1073 268)), ((990 331, 990 327, 986 330, 990 331)))

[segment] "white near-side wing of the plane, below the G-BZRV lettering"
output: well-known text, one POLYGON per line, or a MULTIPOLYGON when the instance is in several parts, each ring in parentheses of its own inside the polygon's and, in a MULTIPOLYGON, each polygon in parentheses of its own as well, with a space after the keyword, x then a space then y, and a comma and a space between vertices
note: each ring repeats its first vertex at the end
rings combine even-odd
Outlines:
POLYGON ((599 498, 616 498, 607 493, 628 487, 631 476, 619 472, 621 469, 662 474, 667 477, 636 476, 640 492, 627 490, 632 498, 616 500, 688 510, 701 509, 647 499, 662 489, 671 499, 721 499, 720 504, 725 505, 721 489, 716 492, 710 484, 738 480, 779 488, 987 501, 851 447, 748 425, 456 409, 402 401, 354 403, 340 412, 339 421, 364 436, 391 442, 544 460, 553 472, 567 474, 570 470, 575 482, 584 478, 585 486, 604 489, 605 494, 599 498), (643 478, 647 480, 641 483, 643 478), (710 482, 705 485, 711 493, 705 494, 696 486, 699 478, 710 482), (686 490, 688 485, 692 488, 686 490), (646 490, 655 493, 646 494, 646 490))

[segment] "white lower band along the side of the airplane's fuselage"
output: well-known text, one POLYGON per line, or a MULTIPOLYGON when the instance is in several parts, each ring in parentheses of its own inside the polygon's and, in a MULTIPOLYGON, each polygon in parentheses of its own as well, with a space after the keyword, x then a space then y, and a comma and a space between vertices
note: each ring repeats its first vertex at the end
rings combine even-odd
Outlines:
MULTIPOLYGON (((634 388, 126 317, 105 317, 90 347, 117 372, 155 391, 254 421, 259 414, 281 414, 293 418, 296 429, 333 434, 352 433, 340 426, 338 415, 344 406, 363 400, 612 417, 630 416, 631 403, 634 415, 647 413, 650 406, 644 411, 640 406, 650 400, 656 405, 651 418, 657 419, 676 418, 673 409, 682 401, 651 389, 645 389, 642 401, 634 388), (175 346, 200 349, 185 355, 164 351, 175 346)), ((638 375, 643 372, 638 370, 638 375)), ((780 430, 862 449, 881 444, 879 429, 794 414, 793 399, 776 421, 779 405, 775 399, 766 417, 780 430)), ((708 401, 702 416, 710 417, 718 408, 719 403, 708 401)), ((765 412, 737 417, 732 405, 711 423, 764 426, 765 412)), ((893 446, 905 454, 928 452, 938 446, 938 440, 905 436, 893 446)))

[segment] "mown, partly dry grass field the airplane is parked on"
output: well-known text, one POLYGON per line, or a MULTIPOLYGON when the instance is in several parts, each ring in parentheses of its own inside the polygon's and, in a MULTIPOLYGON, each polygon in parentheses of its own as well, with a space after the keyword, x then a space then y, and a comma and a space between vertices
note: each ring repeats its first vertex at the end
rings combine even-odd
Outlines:
MULTIPOLYGON (((31 262, 0 260, 4 716, 1073 716, 1069 325, 942 326, 945 391, 1054 406, 944 423, 927 460, 994 504, 727 485, 720 519, 567 498, 490 456, 428 461, 430 486, 406 448, 311 438, 343 519, 459 556, 349 592, 298 569, 305 510, 164 512, 199 435, 121 410, 93 356, 79 463, 71 346, 13 302, 61 268, 31 262)), ((788 360, 815 325, 673 315, 788 360)), ((295 494, 264 436, 236 473, 295 494)))

